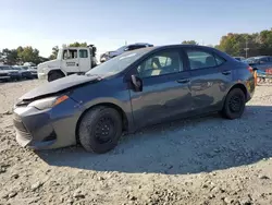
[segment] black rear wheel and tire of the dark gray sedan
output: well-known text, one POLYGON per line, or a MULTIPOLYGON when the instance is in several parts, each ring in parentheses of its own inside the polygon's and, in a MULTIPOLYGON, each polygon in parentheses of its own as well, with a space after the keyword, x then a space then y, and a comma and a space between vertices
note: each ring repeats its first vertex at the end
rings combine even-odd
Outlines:
POLYGON ((242 117, 245 107, 246 96, 244 92, 240 88, 234 88, 227 94, 221 113, 224 118, 234 120, 242 117))

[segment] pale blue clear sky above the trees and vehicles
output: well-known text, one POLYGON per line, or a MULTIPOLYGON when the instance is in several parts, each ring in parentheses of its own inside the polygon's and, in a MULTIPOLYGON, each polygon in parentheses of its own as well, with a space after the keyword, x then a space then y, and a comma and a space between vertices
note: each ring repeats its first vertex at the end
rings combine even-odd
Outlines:
POLYGON ((272 0, 0 0, 0 49, 94 44, 98 55, 127 44, 217 45, 227 33, 272 27, 272 0))

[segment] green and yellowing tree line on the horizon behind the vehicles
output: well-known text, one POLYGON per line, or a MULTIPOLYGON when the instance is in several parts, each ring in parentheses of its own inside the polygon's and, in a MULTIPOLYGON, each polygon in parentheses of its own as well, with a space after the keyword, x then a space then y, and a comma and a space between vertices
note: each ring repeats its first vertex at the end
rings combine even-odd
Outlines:
MULTIPOLYGON (((182 44, 198 45, 196 40, 184 40, 182 44)), ((87 43, 73 43, 65 46, 86 47, 87 43)), ((235 34, 228 33, 221 37, 219 45, 208 45, 220 49, 231 56, 254 57, 254 56, 272 56, 272 28, 264 29, 254 34, 235 34)), ((30 46, 17 47, 16 49, 4 48, 0 51, 0 60, 5 64, 23 64, 41 62, 55 59, 59 47, 52 48, 52 53, 48 58, 39 56, 39 50, 30 46)))

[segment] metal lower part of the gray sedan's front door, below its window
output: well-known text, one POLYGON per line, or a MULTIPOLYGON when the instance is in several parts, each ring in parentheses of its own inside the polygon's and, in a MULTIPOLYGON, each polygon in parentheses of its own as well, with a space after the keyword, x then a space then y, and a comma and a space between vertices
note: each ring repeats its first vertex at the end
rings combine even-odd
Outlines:
POLYGON ((144 126, 175 118, 191 109, 189 72, 144 79, 143 92, 131 91, 135 124, 144 126))

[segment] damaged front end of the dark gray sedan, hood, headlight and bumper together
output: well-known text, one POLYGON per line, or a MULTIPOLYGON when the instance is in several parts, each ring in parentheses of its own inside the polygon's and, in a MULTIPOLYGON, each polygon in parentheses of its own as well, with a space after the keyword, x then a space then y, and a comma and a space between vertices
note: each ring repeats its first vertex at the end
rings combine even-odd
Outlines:
POLYGON ((34 149, 76 144, 76 124, 83 107, 73 93, 78 86, 99 81, 98 76, 70 75, 23 95, 13 110, 17 143, 34 149))

